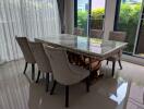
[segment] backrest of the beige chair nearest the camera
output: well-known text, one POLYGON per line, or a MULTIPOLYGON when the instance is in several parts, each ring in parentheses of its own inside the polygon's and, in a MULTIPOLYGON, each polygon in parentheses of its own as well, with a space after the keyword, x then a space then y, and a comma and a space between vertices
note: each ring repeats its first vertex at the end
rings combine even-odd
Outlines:
POLYGON ((70 84, 74 78, 70 64, 68 61, 67 52, 60 48, 45 47, 45 51, 50 60, 53 78, 63 84, 70 84))

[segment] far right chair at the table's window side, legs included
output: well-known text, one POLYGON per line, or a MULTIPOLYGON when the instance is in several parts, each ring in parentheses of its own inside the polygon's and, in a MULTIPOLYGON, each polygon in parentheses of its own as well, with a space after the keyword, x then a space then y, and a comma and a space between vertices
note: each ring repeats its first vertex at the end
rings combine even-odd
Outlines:
MULTIPOLYGON (((109 33, 109 40, 125 41, 125 36, 127 36, 125 32, 110 32, 109 33)), ((107 59, 107 64, 109 61, 112 61, 112 76, 115 74, 116 61, 119 62, 120 69, 122 70, 121 56, 122 56, 122 49, 119 51, 118 55, 112 56, 112 57, 107 59)))

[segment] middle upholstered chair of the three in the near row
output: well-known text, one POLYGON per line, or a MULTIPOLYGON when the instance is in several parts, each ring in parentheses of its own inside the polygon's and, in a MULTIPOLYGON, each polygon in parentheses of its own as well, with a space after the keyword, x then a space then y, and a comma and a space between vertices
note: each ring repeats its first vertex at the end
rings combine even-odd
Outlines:
POLYGON ((40 73, 46 73, 46 92, 48 92, 49 74, 52 72, 49 59, 46 56, 46 52, 44 50, 44 46, 41 43, 29 41, 28 44, 35 57, 36 63, 38 65, 38 75, 37 75, 36 83, 38 83, 39 81, 40 73))

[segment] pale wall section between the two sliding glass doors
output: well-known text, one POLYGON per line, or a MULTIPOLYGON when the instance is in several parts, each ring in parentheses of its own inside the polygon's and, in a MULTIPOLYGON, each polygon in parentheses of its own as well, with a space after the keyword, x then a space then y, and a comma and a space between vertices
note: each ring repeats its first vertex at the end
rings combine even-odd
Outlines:
POLYGON ((116 2, 117 0, 106 0, 106 14, 105 14, 106 17, 105 17, 105 26, 104 26, 105 39, 108 39, 109 32, 113 31, 116 2))

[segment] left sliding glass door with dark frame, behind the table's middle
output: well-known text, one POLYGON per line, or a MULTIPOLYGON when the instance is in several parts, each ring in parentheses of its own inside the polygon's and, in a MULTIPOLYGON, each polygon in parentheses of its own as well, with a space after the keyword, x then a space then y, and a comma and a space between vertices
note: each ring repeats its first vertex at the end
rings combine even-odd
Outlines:
POLYGON ((104 29, 105 4, 106 0, 75 0, 75 27, 86 36, 89 29, 104 29))

